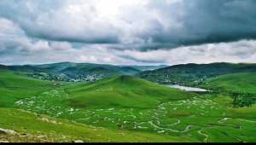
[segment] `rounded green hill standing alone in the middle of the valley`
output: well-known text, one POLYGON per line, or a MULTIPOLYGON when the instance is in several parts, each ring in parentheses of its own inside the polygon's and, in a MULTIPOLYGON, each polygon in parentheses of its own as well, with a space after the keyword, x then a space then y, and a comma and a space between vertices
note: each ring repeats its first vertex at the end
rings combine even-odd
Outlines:
POLYGON ((85 107, 155 107, 162 100, 179 100, 193 93, 154 84, 132 76, 108 77, 67 88, 69 102, 85 107))

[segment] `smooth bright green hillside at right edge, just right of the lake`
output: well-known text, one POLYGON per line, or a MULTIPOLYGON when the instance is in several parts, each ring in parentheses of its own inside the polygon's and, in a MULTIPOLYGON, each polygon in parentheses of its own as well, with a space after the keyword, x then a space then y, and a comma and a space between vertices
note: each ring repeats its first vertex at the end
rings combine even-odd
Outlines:
POLYGON ((209 78, 202 82, 199 87, 211 88, 212 90, 236 90, 256 92, 256 73, 225 74, 216 78, 209 78))

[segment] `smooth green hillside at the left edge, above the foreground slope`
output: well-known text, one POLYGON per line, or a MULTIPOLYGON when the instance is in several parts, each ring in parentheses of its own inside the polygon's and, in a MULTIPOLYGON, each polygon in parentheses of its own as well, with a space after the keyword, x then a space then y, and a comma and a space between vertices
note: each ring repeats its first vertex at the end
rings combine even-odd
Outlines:
POLYGON ((12 71, 0 72, 0 107, 9 107, 20 98, 33 96, 40 91, 50 90, 55 86, 50 81, 28 78, 12 71))

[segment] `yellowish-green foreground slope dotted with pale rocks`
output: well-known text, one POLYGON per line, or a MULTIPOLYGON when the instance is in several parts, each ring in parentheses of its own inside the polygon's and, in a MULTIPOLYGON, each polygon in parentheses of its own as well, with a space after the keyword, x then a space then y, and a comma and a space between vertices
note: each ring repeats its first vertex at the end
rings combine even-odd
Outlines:
POLYGON ((178 136, 111 130, 12 108, 0 107, 0 112, 2 142, 196 142, 178 136))

